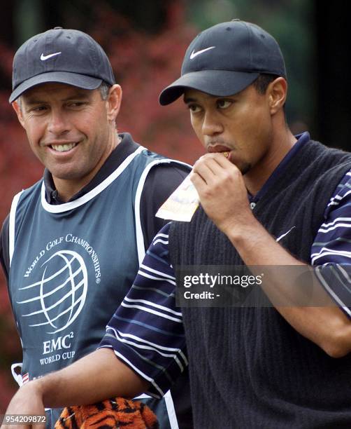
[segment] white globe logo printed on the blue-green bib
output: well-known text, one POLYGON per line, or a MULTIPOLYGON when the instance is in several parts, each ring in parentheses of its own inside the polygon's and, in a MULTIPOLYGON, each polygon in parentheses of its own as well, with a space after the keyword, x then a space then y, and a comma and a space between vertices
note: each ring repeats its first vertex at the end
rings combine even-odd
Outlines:
POLYGON ((30 327, 48 326, 48 334, 60 332, 76 320, 87 297, 87 267, 83 257, 60 250, 41 265, 40 280, 22 287, 21 304, 30 327))

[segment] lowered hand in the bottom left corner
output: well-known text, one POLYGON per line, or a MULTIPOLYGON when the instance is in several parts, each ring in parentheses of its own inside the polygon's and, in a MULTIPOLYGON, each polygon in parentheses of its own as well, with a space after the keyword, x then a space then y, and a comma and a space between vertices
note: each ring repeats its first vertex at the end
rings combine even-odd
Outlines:
POLYGON ((45 428, 44 423, 24 424, 24 418, 22 418, 22 416, 45 416, 43 397, 38 381, 30 381, 17 390, 6 410, 6 416, 10 417, 11 415, 18 416, 19 421, 16 424, 8 424, 5 417, 1 429, 45 428))

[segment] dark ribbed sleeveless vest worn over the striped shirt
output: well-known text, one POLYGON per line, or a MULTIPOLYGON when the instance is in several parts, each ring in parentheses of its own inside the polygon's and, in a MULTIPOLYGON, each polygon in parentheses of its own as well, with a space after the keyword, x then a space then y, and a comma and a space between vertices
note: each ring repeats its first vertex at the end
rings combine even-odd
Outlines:
MULTIPOLYGON (((280 244, 309 264, 324 210, 350 168, 351 154, 310 141, 253 212, 275 237, 294 226, 280 244)), ((201 207, 192 222, 173 222, 169 248, 174 267, 243 264, 201 207)), ((196 428, 350 428, 351 355, 329 357, 275 308, 182 314, 196 428)))

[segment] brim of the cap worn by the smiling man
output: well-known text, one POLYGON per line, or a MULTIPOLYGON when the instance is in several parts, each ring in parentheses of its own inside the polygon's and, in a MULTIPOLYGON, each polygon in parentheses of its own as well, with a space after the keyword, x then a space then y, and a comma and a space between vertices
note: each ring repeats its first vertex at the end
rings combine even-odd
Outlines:
POLYGON ((101 85, 102 79, 96 79, 92 76, 85 76, 84 74, 70 73, 69 71, 48 71, 47 73, 38 74, 31 79, 22 82, 13 93, 10 95, 9 102, 14 102, 24 91, 33 88, 41 83, 66 83, 67 85, 78 86, 87 90, 94 90, 101 85))

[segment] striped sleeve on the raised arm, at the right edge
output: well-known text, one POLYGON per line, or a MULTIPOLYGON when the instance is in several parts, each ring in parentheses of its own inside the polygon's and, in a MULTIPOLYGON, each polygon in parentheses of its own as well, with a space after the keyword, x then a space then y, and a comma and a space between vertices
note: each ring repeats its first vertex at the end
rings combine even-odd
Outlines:
POLYGON ((338 184, 311 249, 324 289, 351 318, 351 171, 338 184))

